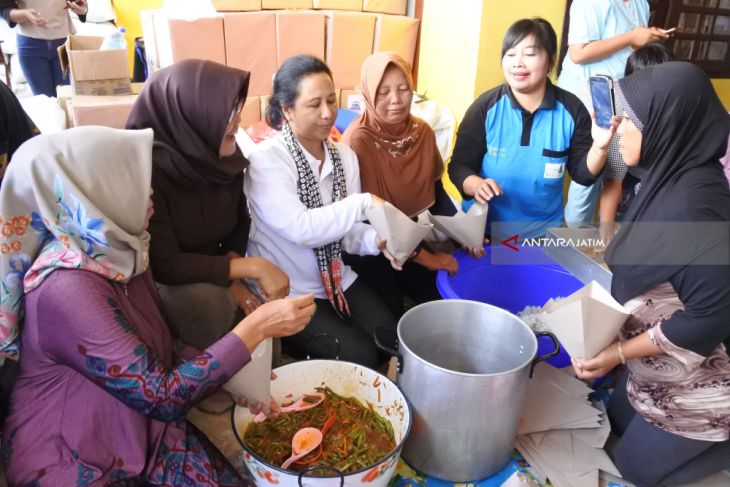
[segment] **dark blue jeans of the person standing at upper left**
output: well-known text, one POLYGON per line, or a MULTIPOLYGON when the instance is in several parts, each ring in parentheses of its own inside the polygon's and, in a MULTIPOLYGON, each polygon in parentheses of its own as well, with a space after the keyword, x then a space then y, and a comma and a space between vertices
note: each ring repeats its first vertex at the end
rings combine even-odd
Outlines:
POLYGON ((56 96, 56 86, 69 83, 58 58, 58 47, 64 42, 65 38, 45 40, 18 34, 18 61, 34 95, 56 96))

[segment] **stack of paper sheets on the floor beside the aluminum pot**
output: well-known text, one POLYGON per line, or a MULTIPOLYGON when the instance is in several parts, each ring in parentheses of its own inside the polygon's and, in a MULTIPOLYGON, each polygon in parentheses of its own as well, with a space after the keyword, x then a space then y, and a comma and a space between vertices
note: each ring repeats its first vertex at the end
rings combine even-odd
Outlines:
POLYGON ((611 432, 602 404, 591 405, 591 388, 541 363, 527 383, 517 449, 553 485, 598 486, 599 470, 619 476, 603 445, 611 432))

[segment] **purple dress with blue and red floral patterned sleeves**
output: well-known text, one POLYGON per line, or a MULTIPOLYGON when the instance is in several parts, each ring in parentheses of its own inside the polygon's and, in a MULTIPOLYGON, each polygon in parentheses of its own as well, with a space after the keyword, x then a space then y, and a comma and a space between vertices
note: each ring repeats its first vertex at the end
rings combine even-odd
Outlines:
POLYGON ((11 485, 247 484, 185 415, 249 354, 228 334, 174 367, 149 272, 51 273, 26 297, 22 338, 3 427, 11 485))

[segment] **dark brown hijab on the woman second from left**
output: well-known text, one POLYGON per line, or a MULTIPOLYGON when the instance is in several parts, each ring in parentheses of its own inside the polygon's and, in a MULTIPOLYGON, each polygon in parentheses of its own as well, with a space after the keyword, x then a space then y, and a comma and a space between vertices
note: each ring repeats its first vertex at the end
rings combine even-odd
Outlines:
POLYGON ((153 161, 186 187, 231 182, 248 166, 236 147, 218 155, 228 117, 248 93, 248 71, 188 59, 155 72, 145 83, 127 119, 128 129, 155 132, 153 161))

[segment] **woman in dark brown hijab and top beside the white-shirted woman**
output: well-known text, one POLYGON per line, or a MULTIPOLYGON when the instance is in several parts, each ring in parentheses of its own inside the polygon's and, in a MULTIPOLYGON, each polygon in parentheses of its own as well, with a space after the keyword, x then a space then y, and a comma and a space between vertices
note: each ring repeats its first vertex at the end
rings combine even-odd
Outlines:
POLYGON ((186 60, 154 73, 127 120, 152 128, 150 264, 172 331, 203 349, 264 299, 289 293, 289 279, 246 251, 250 216, 243 194, 248 160, 235 133, 249 73, 211 61, 186 60))

